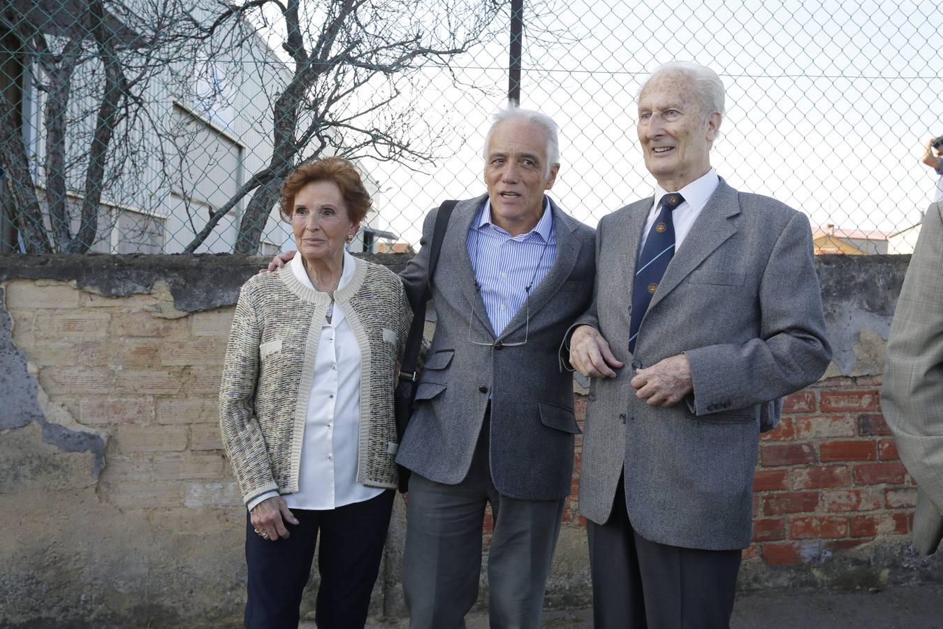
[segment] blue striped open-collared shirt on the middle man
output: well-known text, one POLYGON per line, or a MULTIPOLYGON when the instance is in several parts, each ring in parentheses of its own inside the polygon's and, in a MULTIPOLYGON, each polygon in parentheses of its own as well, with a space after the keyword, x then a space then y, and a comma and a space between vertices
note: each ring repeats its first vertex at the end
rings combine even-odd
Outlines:
MULTIPOLYGON (((556 259, 556 229, 550 200, 544 196, 543 215, 534 229, 511 236, 491 223, 491 202, 478 210, 465 243, 472 259, 475 281, 488 310, 491 329, 500 336, 527 297, 527 285, 534 278, 537 289, 556 259), (536 275, 535 275, 536 271, 536 275)), ((487 342, 489 339, 474 339, 487 342)), ((522 340, 522 339, 521 339, 522 340)))

